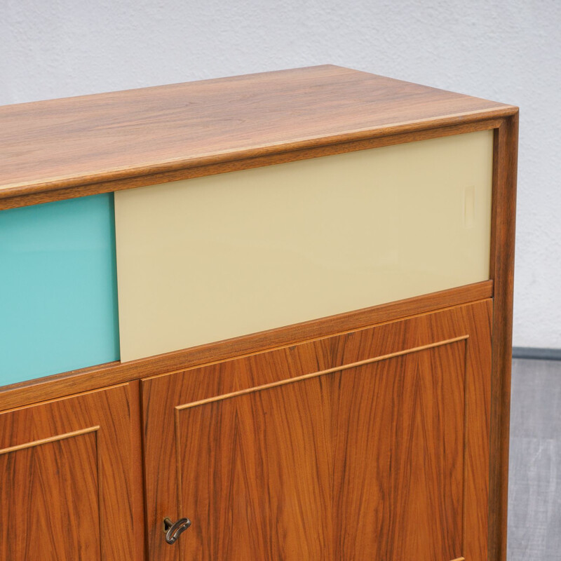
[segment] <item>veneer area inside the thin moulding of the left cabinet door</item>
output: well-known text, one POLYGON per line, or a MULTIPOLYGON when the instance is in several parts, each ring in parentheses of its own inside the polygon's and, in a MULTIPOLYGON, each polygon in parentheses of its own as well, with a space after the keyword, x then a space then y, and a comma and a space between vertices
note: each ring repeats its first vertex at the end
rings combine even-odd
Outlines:
POLYGON ((0 450, 2 559, 101 558, 97 428, 0 450))

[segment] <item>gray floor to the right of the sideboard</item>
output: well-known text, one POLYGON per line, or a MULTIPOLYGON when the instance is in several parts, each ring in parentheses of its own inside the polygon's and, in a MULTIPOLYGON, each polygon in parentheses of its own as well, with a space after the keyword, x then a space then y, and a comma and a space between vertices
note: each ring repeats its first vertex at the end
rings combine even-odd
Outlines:
POLYGON ((513 360, 508 561, 561 560, 561 361, 513 360))

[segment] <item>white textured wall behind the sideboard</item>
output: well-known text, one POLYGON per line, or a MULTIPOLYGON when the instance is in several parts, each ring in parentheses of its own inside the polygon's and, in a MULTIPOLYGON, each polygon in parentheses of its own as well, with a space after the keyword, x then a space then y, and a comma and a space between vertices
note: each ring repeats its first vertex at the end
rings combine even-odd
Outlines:
POLYGON ((560 0, 0 0, 0 104, 327 62, 521 107, 514 344, 561 348, 560 0))

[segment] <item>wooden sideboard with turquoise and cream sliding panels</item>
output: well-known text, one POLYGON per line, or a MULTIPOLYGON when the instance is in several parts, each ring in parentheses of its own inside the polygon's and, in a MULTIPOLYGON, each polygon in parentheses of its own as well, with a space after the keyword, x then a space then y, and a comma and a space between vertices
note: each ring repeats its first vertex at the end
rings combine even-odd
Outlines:
POLYGON ((0 130, 1 559, 505 560, 518 108, 325 65, 0 130))

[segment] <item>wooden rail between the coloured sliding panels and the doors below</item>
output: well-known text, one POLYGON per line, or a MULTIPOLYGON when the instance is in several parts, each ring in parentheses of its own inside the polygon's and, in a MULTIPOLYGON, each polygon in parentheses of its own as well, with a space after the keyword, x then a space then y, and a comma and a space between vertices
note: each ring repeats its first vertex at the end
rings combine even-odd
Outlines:
POLYGON ((425 313, 447 306, 457 306, 467 302, 492 297, 493 283, 461 286, 450 290, 433 292, 414 298, 372 306, 363 310, 341 313, 319 320, 307 321, 297 325, 278 327, 260 333, 229 339, 184 349, 173 353, 133 360, 130 363, 107 363, 105 365, 63 372, 39 379, 31 379, 0 388, 0 410, 10 407, 29 405, 41 400, 69 396, 72 393, 88 391, 111 384, 121 384, 154 374, 164 374, 174 370, 184 370, 203 363, 224 360, 248 353, 257 353, 275 346, 284 346, 325 337, 337 332, 354 330, 374 323, 396 320, 425 313))

